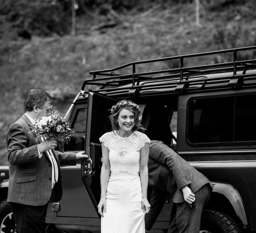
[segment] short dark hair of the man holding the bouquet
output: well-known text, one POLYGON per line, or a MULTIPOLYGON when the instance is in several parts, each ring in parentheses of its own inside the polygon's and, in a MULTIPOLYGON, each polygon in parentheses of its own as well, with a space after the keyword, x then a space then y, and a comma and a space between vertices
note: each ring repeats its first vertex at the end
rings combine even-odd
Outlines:
POLYGON ((47 92, 39 89, 32 89, 29 91, 25 102, 25 109, 26 111, 31 112, 35 105, 37 108, 42 109, 47 101, 53 101, 52 97, 47 92))

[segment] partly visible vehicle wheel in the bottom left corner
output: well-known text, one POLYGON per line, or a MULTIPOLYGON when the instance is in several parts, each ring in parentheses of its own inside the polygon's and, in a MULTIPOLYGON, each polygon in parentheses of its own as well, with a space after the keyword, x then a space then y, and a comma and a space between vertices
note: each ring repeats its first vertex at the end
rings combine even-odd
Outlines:
POLYGON ((11 205, 6 199, 0 203, 0 233, 16 233, 16 225, 11 210, 11 205))

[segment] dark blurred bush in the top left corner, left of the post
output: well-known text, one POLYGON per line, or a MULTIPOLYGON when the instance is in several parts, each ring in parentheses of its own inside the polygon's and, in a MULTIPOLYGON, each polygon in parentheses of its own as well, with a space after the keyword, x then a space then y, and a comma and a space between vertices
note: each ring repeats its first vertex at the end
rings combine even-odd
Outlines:
POLYGON ((0 15, 18 29, 33 35, 64 35, 70 28, 71 3, 68 0, 2 0, 0 15), (70 9, 68 9, 70 5, 70 9))

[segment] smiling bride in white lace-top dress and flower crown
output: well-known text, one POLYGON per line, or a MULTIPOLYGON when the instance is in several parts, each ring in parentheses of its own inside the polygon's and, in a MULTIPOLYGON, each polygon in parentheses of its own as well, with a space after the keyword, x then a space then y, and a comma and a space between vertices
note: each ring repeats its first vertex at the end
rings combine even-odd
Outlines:
POLYGON ((112 131, 102 143, 101 199, 98 212, 101 233, 145 233, 150 139, 142 128, 140 107, 122 100, 111 108, 112 131))

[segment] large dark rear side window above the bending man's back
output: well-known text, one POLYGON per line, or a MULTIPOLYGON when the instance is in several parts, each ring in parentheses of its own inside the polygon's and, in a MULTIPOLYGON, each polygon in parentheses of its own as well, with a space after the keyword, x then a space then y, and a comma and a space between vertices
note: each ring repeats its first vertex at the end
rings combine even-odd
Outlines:
POLYGON ((190 100, 188 141, 192 144, 255 141, 255 101, 256 95, 190 100))

